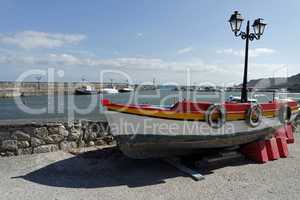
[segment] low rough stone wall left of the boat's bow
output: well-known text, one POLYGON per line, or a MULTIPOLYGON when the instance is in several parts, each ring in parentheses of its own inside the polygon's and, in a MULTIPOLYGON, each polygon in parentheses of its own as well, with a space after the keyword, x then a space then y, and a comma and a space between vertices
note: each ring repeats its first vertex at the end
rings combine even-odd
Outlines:
POLYGON ((113 143, 108 124, 102 121, 0 125, 0 156, 69 151, 113 143))

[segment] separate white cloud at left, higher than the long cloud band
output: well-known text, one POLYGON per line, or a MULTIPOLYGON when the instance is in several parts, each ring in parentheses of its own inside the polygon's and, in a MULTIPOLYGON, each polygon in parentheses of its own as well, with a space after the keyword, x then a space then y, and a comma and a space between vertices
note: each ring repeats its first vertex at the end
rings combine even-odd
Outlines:
POLYGON ((13 35, 0 35, 0 43, 16 45, 24 49, 57 48, 67 44, 78 44, 85 38, 83 34, 23 31, 13 35))

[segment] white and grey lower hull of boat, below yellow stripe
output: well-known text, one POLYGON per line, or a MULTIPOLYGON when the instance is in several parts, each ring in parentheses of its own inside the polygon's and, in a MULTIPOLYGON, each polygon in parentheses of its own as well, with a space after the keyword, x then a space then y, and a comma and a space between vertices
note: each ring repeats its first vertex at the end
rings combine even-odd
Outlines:
POLYGON ((277 117, 263 118, 255 128, 238 120, 226 122, 218 129, 211 128, 205 121, 170 120, 113 111, 106 117, 121 151, 137 159, 242 145, 270 137, 282 127, 277 117))

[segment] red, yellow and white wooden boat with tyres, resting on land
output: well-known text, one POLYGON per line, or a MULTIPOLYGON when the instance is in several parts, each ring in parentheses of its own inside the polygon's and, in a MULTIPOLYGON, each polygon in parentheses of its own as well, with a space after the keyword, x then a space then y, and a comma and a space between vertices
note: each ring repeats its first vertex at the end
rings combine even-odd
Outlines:
POLYGON ((167 157, 226 148, 271 137, 295 119, 294 100, 222 104, 180 101, 172 107, 102 100, 111 133, 132 158, 167 157))

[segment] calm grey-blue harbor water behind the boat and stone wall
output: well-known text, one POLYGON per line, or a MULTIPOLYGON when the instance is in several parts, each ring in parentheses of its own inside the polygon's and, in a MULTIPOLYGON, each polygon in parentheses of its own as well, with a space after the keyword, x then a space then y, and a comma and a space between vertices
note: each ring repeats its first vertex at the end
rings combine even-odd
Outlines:
MULTIPOLYGON (((272 100, 273 93, 257 93, 258 102, 272 100), (261 95, 263 94, 263 95, 261 95)), ((105 120, 101 99, 107 98, 117 103, 151 104, 171 106, 178 100, 222 102, 230 95, 239 92, 181 92, 172 90, 148 90, 133 93, 103 95, 64 95, 64 96, 27 96, 19 98, 0 98, 0 121, 17 120, 68 120, 89 119, 105 120)), ((249 94, 251 98, 251 94, 249 94)), ((287 97, 300 99, 300 94, 289 93, 287 97)))

